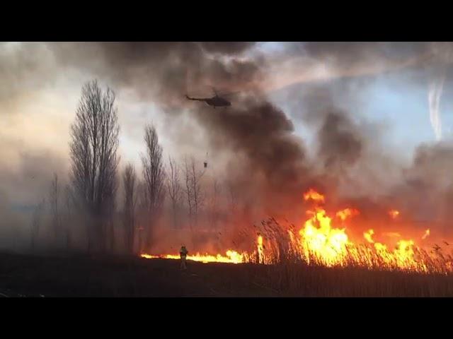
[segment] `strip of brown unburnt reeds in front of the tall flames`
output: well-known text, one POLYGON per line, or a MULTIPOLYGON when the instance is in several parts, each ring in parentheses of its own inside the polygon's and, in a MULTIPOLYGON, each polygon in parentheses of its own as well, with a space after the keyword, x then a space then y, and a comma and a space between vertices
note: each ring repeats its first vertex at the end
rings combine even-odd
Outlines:
MULTIPOLYGON (((452 297, 453 276, 304 263, 262 266, 257 283, 282 297, 452 297)), ((254 268, 250 268, 254 270, 254 268)))

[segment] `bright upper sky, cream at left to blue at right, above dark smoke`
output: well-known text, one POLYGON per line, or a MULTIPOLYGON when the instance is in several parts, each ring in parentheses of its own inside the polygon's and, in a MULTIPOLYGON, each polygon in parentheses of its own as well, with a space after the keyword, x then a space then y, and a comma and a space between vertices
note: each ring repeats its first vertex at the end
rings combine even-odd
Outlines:
POLYGON ((240 93, 259 88, 289 117, 294 135, 302 138, 309 153, 316 148, 318 127, 307 123, 309 114, 304 112, 321 109, 328 102, 370 131, 379 126, 379 142, 406 164, 420 144, 434 144, 453 133, 449 44, 260 42, 232 44, 231 49, 203 44, 202 62, 196 54, 201 52, 193 52, 186 44, 123 48, 0 43, 2 203, 11 208, 33 205, 52 172, 67 179, 69 126, 81 87, 93 78, 117 95, 122 165, 133 162, 139 167, 143 129, 149 122, 155 124, 166 156, 206 157, 212 151, 209 131, 191 115, 199 103, 180 98, 185 92, 211 95, 207 84, 240 93), (156 52, 159 49, 165 53, 156 52), (426 61, 428 54, 434 59, 426 61), (183 78, 185 85, 181 85, 183 78), (441 139, 430 121, 432 82, 442 82, 442 90, 435 93, 441 139), (307 104, 320 91, 328 93, 328 98, 307 104))

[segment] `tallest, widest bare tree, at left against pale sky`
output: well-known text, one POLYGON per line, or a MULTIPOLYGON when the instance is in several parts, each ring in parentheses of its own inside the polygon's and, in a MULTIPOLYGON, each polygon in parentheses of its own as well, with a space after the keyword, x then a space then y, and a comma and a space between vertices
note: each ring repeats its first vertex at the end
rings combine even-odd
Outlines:
POLYGON ((86 83, 71 125, 71 180, 74 194, 83 206, 92 225, 88 225, 88 250, 93 246, 104 250, 112 233, 111 213, 115 210, 117 190, 118 136, 115 93, 103 91, 97 81, 86 83))

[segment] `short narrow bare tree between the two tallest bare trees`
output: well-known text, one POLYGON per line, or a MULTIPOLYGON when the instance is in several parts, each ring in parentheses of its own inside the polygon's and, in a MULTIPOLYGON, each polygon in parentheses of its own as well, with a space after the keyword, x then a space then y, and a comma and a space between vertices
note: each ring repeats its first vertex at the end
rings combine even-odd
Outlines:
POLYGON ((122 182, 125 188, 123 225, 126 233, 126 248, 130 254, 133 254, 136 225, 135 210, 137 205, 137 174, 135 173, 135 169, 132 164, 127 164, 125 172, 122 174, 122 182))

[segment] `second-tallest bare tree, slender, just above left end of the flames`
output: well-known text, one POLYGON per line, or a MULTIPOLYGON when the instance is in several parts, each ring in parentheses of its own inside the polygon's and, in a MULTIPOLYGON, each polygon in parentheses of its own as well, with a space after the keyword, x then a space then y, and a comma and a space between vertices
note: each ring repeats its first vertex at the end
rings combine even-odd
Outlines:
POLYGON ((146 246, 151 246, 152 227, 159 218, 165 198, 165 170, 162 159, 162 146, 155 127, 149 124, 145 127, 144 142, 146 151, 142 155, 144 177, 144 203, 147 210, 146 246))

